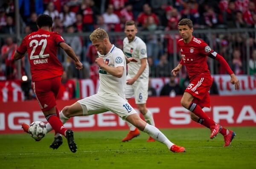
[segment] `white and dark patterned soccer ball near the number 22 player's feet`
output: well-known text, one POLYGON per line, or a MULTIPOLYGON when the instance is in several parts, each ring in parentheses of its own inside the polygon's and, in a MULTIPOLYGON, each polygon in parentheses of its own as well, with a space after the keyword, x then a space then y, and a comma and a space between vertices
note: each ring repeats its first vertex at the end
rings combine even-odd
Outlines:
POLYGON ((34 121, 29 126, 29 134, 35 141, 40 141, 46 133, 46 125, 42 121, 34 121))

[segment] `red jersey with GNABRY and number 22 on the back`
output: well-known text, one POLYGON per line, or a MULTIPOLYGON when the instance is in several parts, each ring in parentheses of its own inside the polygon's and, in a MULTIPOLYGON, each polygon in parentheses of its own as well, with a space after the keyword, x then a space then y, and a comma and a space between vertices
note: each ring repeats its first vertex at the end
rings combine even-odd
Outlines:
POLYGON ((28 52, 33 82, 62 75, 63 68, 56 55, 61 42, 65 41, 60 34, 43 29, 32 32, 22 40, 17 52, 28 52))

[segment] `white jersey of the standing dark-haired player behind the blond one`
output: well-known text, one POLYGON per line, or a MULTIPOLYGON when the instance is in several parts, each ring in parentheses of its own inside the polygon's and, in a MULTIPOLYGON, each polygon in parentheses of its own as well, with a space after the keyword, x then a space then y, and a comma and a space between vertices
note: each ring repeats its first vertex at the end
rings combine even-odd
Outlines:
MULTIPOLYGON (((137 72, 140 69, 141 63, 140 63, 140 59, 143 58, 147 58, 147 48, 146 48, 146 44, 143 42, 142 39, 140 39, 139 37, 135 37, 134 40, 132 42, 128 41, 128 38, 126 37, 123 40, 123 51, 125 53, 125 55, 129 58, 129 57, 133 57, 135 58, 138 63, 135 62, 130 62, 128 64, 128 76, 127 79, 131 79, 133 78, 137 72)), ((142 80, 142 79, 148 79, 148 75, 149 75, 149 68, 148 68, 148 61, 147 61, 147 67, 145 68, 145 70, 143 71, 143 73, 140 75, 139 79, 137 79, 138 81, 142 80)))

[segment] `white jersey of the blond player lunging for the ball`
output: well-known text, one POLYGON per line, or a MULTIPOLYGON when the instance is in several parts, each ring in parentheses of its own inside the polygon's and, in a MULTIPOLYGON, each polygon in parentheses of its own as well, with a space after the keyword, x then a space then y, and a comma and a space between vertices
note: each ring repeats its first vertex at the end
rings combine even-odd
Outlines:
POLYGON ((110 51, 106 55, 101 55, 98 52, 99 57, 102 57, 105 64, 116 68, 118 66, 124 67, 123 75, 121 78, 115 77, 104 69, 99 68, 99 91, 98 93, 105 94, 117 94, 125 99, 125 87, 126 87, 126 61, 125 55, 121 49, 112 45, 110 51))

